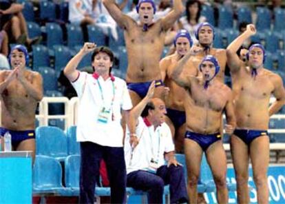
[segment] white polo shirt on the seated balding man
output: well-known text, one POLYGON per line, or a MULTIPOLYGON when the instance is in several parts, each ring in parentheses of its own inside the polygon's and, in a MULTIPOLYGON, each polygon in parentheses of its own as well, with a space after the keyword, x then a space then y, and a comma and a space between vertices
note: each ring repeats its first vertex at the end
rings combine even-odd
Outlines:
POLYGON ((136 170, 147 170, 151 159, 158 161, 158 166, 165 165, 165 152, 174 151, 171 131, 167 123, 162 123, 154 130, 154 125, 142 117, 138 118, 136 126, 138 145, 134 148, 131 156, 131 145, 129 143, 129 130, 125 136, 125 162, 127 174, 136 170), (159 148, 159 150, 158 150, 159 148))

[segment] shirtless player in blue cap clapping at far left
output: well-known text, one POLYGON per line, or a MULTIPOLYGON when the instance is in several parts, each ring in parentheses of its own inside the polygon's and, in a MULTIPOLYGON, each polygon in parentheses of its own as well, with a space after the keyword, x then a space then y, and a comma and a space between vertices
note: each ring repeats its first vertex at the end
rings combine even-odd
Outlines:
POLYGON ((12 150, 35 152, 36 105, 43 99, 43 79, 38 72, 25 69, 29 55, 23 45, 15 45, 9 56, 12 70, 0 72, 0 135, 12 135, 12 150))

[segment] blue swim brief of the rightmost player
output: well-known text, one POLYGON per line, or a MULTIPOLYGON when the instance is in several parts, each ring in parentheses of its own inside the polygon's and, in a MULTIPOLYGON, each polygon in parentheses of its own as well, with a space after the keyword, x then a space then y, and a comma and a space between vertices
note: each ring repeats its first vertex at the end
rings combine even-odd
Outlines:
POLYGON ((235 129, 233 134, 238 136, 246 145, 250 145, 251 142, 259 136, 268 136, 268 132, 266 130, 244 130, 244 129, 235 129))

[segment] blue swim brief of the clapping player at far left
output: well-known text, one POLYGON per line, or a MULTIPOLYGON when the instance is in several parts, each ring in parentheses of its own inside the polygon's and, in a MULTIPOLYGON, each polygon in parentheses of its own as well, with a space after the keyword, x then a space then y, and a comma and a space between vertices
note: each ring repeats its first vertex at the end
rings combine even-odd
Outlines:
POLYGON ((0 135, 4 136, 4 134, 8 131, 11 134, 11 142, 14 149, 17 149, 21 141, 24 141, 26 139, 34 139, 36 136, 34 130, 15 131, 15 130, 8 130, 6 128, 0 128, 0 135))

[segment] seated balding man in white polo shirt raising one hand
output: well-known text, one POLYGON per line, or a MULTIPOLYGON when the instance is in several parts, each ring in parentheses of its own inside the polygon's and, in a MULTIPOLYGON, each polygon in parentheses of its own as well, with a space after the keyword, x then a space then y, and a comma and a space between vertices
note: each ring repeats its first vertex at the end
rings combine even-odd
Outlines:
POLYGON ((147 96, 129 114, 124 146, 127 186, 149 192, 149 203, 162 203, 164 186, 169 184, 171 203, 186 203, 183 168, 176 161, 171 132, 165 123, 165 103, 159 98, 151 99, 154 87, 153 81, 147 96))

